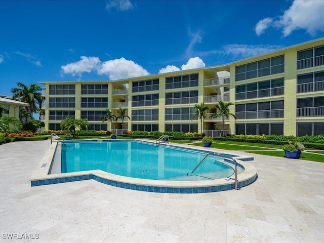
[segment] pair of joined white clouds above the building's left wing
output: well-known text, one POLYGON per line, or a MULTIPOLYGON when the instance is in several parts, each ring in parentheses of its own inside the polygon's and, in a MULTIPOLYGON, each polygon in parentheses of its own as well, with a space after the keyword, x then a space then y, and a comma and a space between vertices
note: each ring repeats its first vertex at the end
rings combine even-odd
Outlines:
POLYGON ((77 62, 61 66, 63 73, 72 76, 77 74, 81 77, 84 72, 97 72, 99 75, 107 75, 110 80, 149 75, 149 72, 142 66, 124 57, 105 62, 101 62, 98 57, 82 56, 80 58, 81 60, 77 62))

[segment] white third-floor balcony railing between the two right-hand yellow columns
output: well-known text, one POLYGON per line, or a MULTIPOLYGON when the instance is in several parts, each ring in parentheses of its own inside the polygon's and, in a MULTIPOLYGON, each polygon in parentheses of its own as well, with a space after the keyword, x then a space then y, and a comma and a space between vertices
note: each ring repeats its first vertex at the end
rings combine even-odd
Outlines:
POLYGON ((276 87, 271 89, 253 90, 235 94, 235 100, 256 99, 271 96, 284 95, 285 87, 276 87))

